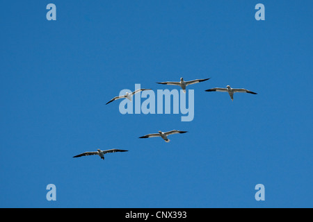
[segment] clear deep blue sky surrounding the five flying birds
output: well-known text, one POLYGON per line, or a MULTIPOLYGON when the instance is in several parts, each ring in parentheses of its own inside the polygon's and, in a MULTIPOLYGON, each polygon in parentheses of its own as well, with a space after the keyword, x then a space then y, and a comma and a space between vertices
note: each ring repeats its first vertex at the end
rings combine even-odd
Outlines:
POLYGON ((313 207, 312 8, 3 1, 0 207, 313 207), (156 82, 180 77, 211 78, 190 86, 191 122, 105 105, 136 83, 173 89, 156 82), (258 94, 204 92, 226 85, 258 94), (138 139, 172 129, 188 133, 138 139), (97 148, 129 152, 72 158, 97 148), (50 183, 56 201, 46 200, 50 183))

